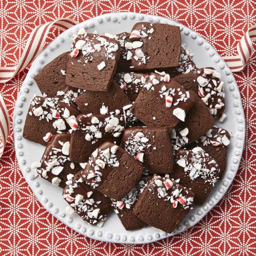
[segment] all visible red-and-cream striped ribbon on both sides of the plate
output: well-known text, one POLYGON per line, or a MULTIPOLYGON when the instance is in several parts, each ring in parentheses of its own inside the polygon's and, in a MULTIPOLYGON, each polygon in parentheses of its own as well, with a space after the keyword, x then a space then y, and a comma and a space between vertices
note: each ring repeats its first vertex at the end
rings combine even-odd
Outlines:
MULTIPOLYGON (((15 75, 25 69, 37 55, 42 51, 46 37, 49 30, 54 27, 61 31, 76 25, 78 22, 72 19, 62 18, 52 22, 47 22, 43 25, 36 27, 30 34, 26 43, 25 49, 21 55, 17 67, 0 67, 0 83, 10 81, 15 75)), ((243 70, 246 62, 249 60, 250 55, 253 53, 252 41, 256 39, 256 26, 251 27, 246 34, 242 37, 241 41, 237 44, 237 56, 227 56, 223 59, 233 72, 243 70)), ((3 154, 5 142, 9 134, 10 121, 8 111, 6 109, 4 100, 0 95, 0 157, 3 154)))

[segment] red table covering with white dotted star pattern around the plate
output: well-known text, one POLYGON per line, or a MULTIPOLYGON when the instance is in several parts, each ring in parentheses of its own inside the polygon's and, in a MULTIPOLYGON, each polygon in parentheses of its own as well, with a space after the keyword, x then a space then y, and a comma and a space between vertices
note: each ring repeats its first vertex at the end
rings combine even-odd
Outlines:
MULTIPOLYGON (((1 1, 0 65, 17 65, 31 30, 58 18, 83 21, 109 12, 132 11, 171 18, 197 31, 220 55, 235 55, 236 44, 255 24, 254 0, 195 1, 1 1)), ((52 30, 48 42, 58 30, 52 30)), ((255 54, 235 78, 246 118, 243 158, 227 194, 196 226, 145 245, 94 241, 48 213, 19 170, 13 131, 0 159, 0 255, 252 255, 256 243, 255 54)), ((28 68, 0 85, 12 121, 15 100, 28 68)))

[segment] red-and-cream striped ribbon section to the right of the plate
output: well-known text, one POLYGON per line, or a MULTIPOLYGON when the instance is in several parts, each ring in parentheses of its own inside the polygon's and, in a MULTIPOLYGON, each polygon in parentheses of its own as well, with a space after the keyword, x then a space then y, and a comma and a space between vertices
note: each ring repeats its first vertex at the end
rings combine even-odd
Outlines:
POLYGON ((237 56, 225 56, 223 59, 227 62, 227 65, 233 72, 242 71, 253 54, 252 41, 256 39, 256 25, 249 28, 245 35, 241 38, 237 44, 237 56))

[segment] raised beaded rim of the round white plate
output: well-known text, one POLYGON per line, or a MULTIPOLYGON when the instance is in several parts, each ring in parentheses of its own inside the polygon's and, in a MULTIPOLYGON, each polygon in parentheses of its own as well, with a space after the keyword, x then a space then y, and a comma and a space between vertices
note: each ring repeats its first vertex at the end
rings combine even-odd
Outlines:
MULTIPOLYGON (((108 32, 111 33, 111 29, 108 32)), ((64 52, 64 50, 62 50, 62 52, 64 52)), ((231 182, 235 178, 239 167, 239 162, 242 157, 245 140, 245 118, 239 89, 233 74, 226 65, 225 61, 223 61, 220 55, 217 53, 217 51, 215 51, 213 47, 205 41, 204 38, 202 38, 196 32, 169 18, 158 17, 148 14, 123 12, 103 14, 79 23, 78 25, 64 31, 61 35, 55 38, 42 51, 42 53, 38 55, 38 57, 31 65, 31 68, 29 69, 29 72, 21 86, 20 93, 15 103, 15 108, 13 112, 13 131, 15 153, 22 174, 24 175, 30 188, 33 190, 33 193, 38 198, 38 201, 41 202, 41 204, 47 211, 53 214, 61 222, 65 223, 65 225, 87 237, 104 242, 143 244, 170 237, 187 230, 189 227, 194 226, 198 221, 200 221, 206 215, 206 213, 209 212, 220 201, 222 196, 226 193, 229 186, 231 185, 231 182), (36 178, 36 173, 30 169, 30 164, 27 159, 28 157, 26 156, 26 151, 28 150, 26 145, 28 144, 28 141, 26 141, 26 139, 22 137, 22 131, 26 119, 28 103, 31 99, 29 95, 31 94, 31 91, 34 90, 33 87, 37 87, 33 77, 45 65, 45 59, 48 58, 47 56, 49 56, 49 53, 53 53, 57 50, 61 51, 61 45, 65 43, 67 38, 70 39, 71 35, 75 34, 81 27, 84 27, 87 30, 94 30, 97 29, 97 27, 99 26, 109 23, 112 23, 113 26, 115 26, 122 21, 132 23, 138 21, 156 23, 161 22, 179 26, 182 38, 196 42, 198 49, 202 49, 202 51, 205 51, 207 53, 207 58, 211 60, 213 59, 213 63, 215 63, 214 67, 218 66, 221 74, 224 74, 224 78, 222 77, 222 79, 225 79, 225 93, 230 93, 231 99, 233 100, 233 102, 231 102, 232 108, 229 111, 232 111, 232 114, 236 118, 236 126, 234 127, 235 132, 233 132, 233 138, 231 139, 230 143, 230 145, 232 146, 230 146, 228 149, 228 154, 231 154, 231 157, 228 158, 228 167, 225 175, 220 181, 218 181, 217 185, 214 188, 214 193, 211 193, 211 195, 207 198, 206 202, 202 206, 196 206, 195 209, 190 211, 185 220, 182 221, 182 223, 177 227, 177 229, 174 230, 172 234, 167 234, 153 227, 143 228, 141 230, 135 231, 124 230, 121 233, 115 234, 115 231, 105 230, 103 228, 104 226, 102 228, 99 228, 97 226, 91 226, 86 222, 83 222, 82 219, 78 217, 78 215, 75 217, 73 217, 73 215, 71 217, 68 216, 65 213, 65 209, 62 209, 63 207, 60 209, 58 205, 56 206, 52 203, 52 200, 49 198, 49 196, 45 196, 45 194, 47 194, 47 191, 45 192, 45 188, 51 185, 50 183, 45 183, 45 181, 41 178, 36 178)), ((35 144, 33 142, 30 143, 32 147, 35 144)), ((36 159, 34 161, 36 161, 36 159)), ((122 225, 121 222, 120 225, 122 225)))

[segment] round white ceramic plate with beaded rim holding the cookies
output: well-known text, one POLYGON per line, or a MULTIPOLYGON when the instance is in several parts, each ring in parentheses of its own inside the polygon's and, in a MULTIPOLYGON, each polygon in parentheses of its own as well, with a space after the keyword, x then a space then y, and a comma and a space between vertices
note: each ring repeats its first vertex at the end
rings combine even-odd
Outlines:
POLYGON ((167 18, 139 13, 112 13, 95 17, 68 29, 54 39, 54 41, 38 55, 27 74, 15 105, 13 126, 15 151, 20 169, 39 202, 41 202, 45 209, 65 223, 65 225, 85 236, 101 241, 131 244, 148 243, 167 236, 172 236, 194 226, 201 220, 204 215, 220 201, 233 181, 242 156, 245 138, 245 120, 238 86, 233 74, 219 54, 201 36, 185 26, 167 18), (130 31, 134 23, 138 21, 161 22, 179 26, 182 43, 185 43, 186 47, 194 53, 193 60, 196 65, 198 67, 214 67, 221 73, 222 80, 225 82, 227 118, 221 126, 233 135, 228 148, 225 175, 222 180, 218 181, 215 185, 212 193, 206 199, 206 202, 201 206, 195 206, 172 234, 166 234, 153 227, 126 231, 114 212, 109 214, 108 220, 101 228, 83 222, 77 214, 73 214, 70 217, 65 213, 67 203, 62 198, 61 189, 52 186, 51 183, 42 178, 36 178, 36 172, 30 169, 32 162, 41 159, 44 147, 22 138, 23 125, 25 123, 29 102, 34 94, 41 94, 33 77, 46 63, 53 60, 59 54, 69 50, 71 35, 76 34, 81 27, 84 27, 89 33, 97 30, 99 34, 103 32, 117 34, 124 30, 130 31))

